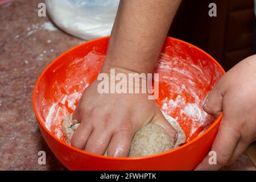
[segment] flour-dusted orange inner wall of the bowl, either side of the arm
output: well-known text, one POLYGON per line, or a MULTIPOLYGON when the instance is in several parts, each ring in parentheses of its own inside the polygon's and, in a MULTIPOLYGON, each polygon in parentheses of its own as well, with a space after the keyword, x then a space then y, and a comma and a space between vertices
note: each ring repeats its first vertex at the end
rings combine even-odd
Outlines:
MULTIPOLYGON (((36 115, 56 138, 65 141, 61 123, 97 78, 108 40, 96 39, 65 52, 40 76, 35 87, 36 115)), ((217 61, 191 44, 167 38, 154 72, 159 73, 159 98, 155 101, 176 119, 187 142, 207 130, 214 119, 203 111, 203 101, 224 74, 217 61)))

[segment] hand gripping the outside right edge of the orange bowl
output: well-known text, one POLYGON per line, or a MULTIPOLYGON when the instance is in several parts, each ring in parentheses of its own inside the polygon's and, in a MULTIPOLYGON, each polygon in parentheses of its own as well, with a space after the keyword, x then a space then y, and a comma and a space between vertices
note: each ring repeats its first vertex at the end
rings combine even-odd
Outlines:
POLYGON ((217 164, 206 156, 195 170, 217 170, 232 164, 256 140, 256 55, 230 69, 208 94, 204 110, 223 118, 211 150, 217 164))

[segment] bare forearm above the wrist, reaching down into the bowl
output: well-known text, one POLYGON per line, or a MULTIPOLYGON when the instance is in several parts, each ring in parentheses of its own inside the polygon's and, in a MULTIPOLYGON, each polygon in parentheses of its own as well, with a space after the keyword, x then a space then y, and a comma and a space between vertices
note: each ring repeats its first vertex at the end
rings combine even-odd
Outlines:
POLYGON ((121 0, 104 67, 154 69, 181 0, 121 0))

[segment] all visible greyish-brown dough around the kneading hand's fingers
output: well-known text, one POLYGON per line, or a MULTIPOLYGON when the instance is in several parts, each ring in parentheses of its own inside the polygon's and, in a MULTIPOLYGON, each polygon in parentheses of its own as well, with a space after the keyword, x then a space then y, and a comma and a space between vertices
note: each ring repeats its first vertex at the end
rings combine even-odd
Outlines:
MULTIPOLYGON (((63 133, 70 144, 71 138, 80 123, 75 119, 72 120, 72 114, 64 118, 63 133)), ((134 135, 131 142, 129 157, 139 157, 158 154, 175 148, 174 139, 169 137, 166 130, 157 123, 149 123, 142 127, 134 135)), ((108 150, 105 152, 107 156, 108 150)))

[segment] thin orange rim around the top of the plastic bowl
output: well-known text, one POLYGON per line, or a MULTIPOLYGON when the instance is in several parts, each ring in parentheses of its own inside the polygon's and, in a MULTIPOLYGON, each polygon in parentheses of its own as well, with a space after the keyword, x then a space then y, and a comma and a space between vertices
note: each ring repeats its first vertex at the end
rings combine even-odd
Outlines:
MULTIPOLYGON (((64 55, 67 55, 69 52, 73 51, 74 49, 76 48, 79 48, 81 46, 84 46, 86 44, 89 44, 89 43, 92 43, 94 41, 98 41, 98 40, 106 40, 106 39, 109 39, 109 36, 104 36, 102 38, 97 38, 97 39, 93 39, 93 40, 89 40, 88 42, 85 42, 85 43, 82 43, 82 44, 79 44, 71 49, 68 49, 67 51, 65 51, 64 53, 62 53, 60 56, 57 56, 56 59, 54 59, 50 64, 47 65, 47 67, 44 69, 44 71, 40 74, 38 80, 36 81, 36 84, 35 84, 35 87, 34 87, 34 90, 33 90, 33 94, 32 94, 32 103, 33 103, 33 109, 34 109, 34 113, 36 115, 36 119, 39 123, 39 125, 43 128, 44 131, 46 131, 46 133, 51 136, 54 140, 56 140, 57 142, 59 142, 60 144, 63 144, 65 147, 68 147, 70 148, 71 150, 74 150, 76 152, 79 152, 80 154, 85 154, 85 155, 90 155, 90 156, 93 156, 93 157, 96 157, 96 158, 102 158, 102 159, 108 159, 108 160, 142 160, 142 159, 152 159, 152 158, 157 158, 158 156, 164 156, 164 155, 168 155, 168 154, 171 154, 173 152, 177 152, 189 145, 191 145, 192 143, 195 143, 197 140, 199 140, 200 138, 203 138, 207 133, 209 133, 210 130, 212 130, 216 125, 218 125, 218 123, 220 123, 221 121, 221 118, 223 117, 223 113, 221 112, 221 114, 218 116, 218 118, 212 123, 212 125, 210 125, 210 127, 204 131, 203 134, 197 136, 196 138, 192 139, 190 142, 187 142, 185 144, 183 144, 182 146, 180 147, 177 147, 173 150, 169 150, 169 151, 166 151, 166 152, 162 152, 162 153, 159 153, 159 154, 154 154, 154 155, 149 155, 149 156, 142 156, 142 157, 113 157, 113 156, 104 156, 104 155, 99 155, 99 154, 93 154, 92 152, 88 152, 88 151, 84 151, 84 150, 80 150, 79 148, 76 148, 76 147, 73 147, 67 143, 65 143, 63 140, 55 137, 55 135, 53 135, 47 128, 46 126, 44 125, 44 122, 41 121, 39 115, 38 115, 38 111, 36 110, 36 105, 35 105, 35 100, 36 100, 36 91, 37 91, 37 88, 38 88, 38 85, 39 85, 39 82, 42 80, 42 77, 44 76, 44 74, 48 71, 48 69, 57 61, 59 60, 62 56, 64 55)), ((184 43, 184 44, 187 44, 187 46, 191 46, 195 49, 197 49, 198 51, 204 53, 205 55, 207 55, 210 59, 213 60, 213 62, 218 66, 218 68, 220 68, 220 70, 222 71, 222 73, 226 73, 224 71, 224 69, 221 67, 221 65, 212 57, 210 56, 207 52, 203 51, 202 49, 200 49, 199 47, 196 47, 188 42, 185 42, 183 40, 180 40, 180 39, 176 39, 176 38, 171 38, 169 36, 167 36, 166 40, 175 40, 176 42, 180 42, 180 43, 184 43)), ((166 41, 165 40, 165 41, 166 41)))

